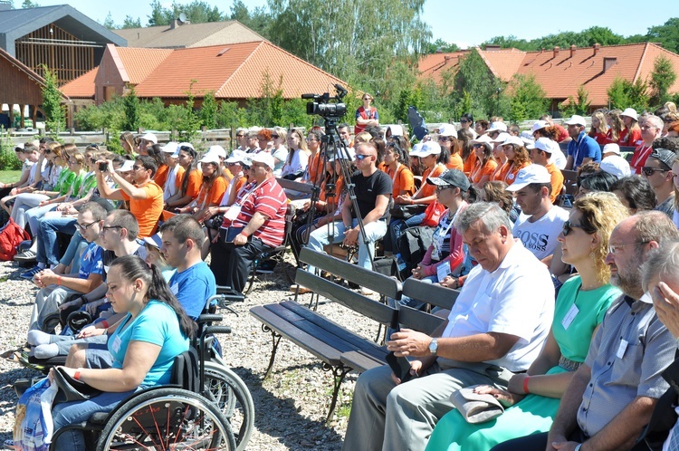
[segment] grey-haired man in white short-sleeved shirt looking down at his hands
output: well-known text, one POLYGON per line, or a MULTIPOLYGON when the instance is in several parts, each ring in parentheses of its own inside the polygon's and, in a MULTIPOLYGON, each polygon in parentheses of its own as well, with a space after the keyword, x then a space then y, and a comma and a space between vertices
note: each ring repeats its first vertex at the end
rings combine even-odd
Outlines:
POLYGON ((454 226, 478 265, 432 336, 403 329, 387 341, 397 356, 415 358, 410 373, 417 378, 401 384, 387 366, 361 374, 345 450, 424 449, 453 408, 451 393, 474 384, 506 387, 542 349, 554 310, 547 267, 512 238, 499 206, 474 203, 454 226))

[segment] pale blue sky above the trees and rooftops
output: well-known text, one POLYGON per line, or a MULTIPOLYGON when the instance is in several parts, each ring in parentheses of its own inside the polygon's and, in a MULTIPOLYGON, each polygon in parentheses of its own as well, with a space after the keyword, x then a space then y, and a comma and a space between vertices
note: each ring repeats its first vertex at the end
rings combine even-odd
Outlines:
MULTIPOLYGON (((36 0, 39 5, 72 5, 82 14, 103 23, 106 15, 113 22, 122 24, 125 15, 140 17, 141 24, 148 21, 151 12, 150 0, 36 0)), ((162 5, 171 5, 171 0, 160 0, 162 5)), ((189 0, 190 1, 190 0, 189 0)), ((243 0, 248 8, 266 5, 265 0, 243 0)), ((21 5, 22 0, 14 0, 21 5)), ((178 0, 177 3, 189 3, 178 0)), ((231 0, 206 0, 220 10, 230 12, 231 0)), ((617 0, 615 3, 562 4, 557 2, 513 0, 499 2, 492 0, 476 7, 474 2, 453 2, 452 0, 426 0, 423 20, 429 24, 434 40, 441 38, 447 43, 456 43, 461 48, 478 45, 494 36, 514 35, 531 40, 548 34, 572 31, 579 32, 591 26, 607 26, 613 33, 628 36, 646 34, 648 27, 665 24, 670 17, 679 16, 679 1, 655 0, 649 4, 638 0, 617 0), (461 8, 459 5, 465 5, 461 8), (582 6, 577 6, 582 5, 582 6)))

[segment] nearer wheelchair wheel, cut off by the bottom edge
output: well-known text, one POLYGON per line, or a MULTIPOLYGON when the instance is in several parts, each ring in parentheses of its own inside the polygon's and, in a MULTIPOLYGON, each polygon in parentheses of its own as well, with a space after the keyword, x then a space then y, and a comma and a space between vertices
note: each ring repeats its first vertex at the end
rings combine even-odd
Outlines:
POLYGON ((235 449, 228 421, 216 406, 184 389, 140 392, 111 415, 97 451, 235 449))

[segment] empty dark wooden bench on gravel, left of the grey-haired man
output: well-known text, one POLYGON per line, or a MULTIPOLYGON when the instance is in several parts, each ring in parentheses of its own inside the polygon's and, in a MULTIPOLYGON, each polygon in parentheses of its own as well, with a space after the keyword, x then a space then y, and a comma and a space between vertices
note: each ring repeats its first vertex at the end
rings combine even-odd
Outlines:
MULTIPOLYGON (((395 278, 373 273, 360 266, 349 264, 328 254, 302 248, 300 261, 327 271, 348 282, 357 283, 380 296, 400 299, 401 283, 395 278)), ((326 280, 315 273, 298 269, 295 282, 311 289, 314 293, 338 302, 348 309, 378 322, 381 326, 396 328, 398 324, 397 309, 375 301, 347 287, 326 280)), ((323 369, 332 371, 334 378, 332 399, 327 419, 330 420, 337 404, 337 396, 342 380, 353 369, 345 365, 341 356, 345 352, 360 351, 377 361, 384 362, 387 350, 381 348, 375 341, 368 340, 359 334, 349 331, 337 322, 330 321, 320 313, 305 307, 299 302, 284 301, 268 305, 259 305, 250 309, 250 313, 263 323, 263 331, 272 334, 272 354, 269 367, 266 369, 266 379, 273 369, 276 350, 282 337, 292 341, 302 349, 311 352, 322 360, 323 369)))

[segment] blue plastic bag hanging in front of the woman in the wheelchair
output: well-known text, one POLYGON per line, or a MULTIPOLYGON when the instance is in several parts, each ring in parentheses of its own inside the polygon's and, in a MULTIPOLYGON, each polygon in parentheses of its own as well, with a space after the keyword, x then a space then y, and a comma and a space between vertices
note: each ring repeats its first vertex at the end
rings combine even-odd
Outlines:
POLYGON ((52 401, 56 384, 45 378, 19 398, 14 419, 14 449, 48 451, 54 432, 52 401))

